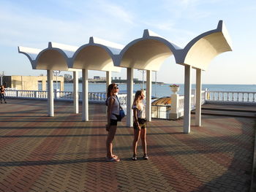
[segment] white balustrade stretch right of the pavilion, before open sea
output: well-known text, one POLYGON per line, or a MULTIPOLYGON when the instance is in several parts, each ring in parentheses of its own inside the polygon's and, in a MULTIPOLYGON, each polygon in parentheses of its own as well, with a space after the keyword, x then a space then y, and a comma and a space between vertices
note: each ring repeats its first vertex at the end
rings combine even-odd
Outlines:
POLYGON ((206 91, 206 103, 256 105, 256 92, 206 91))

